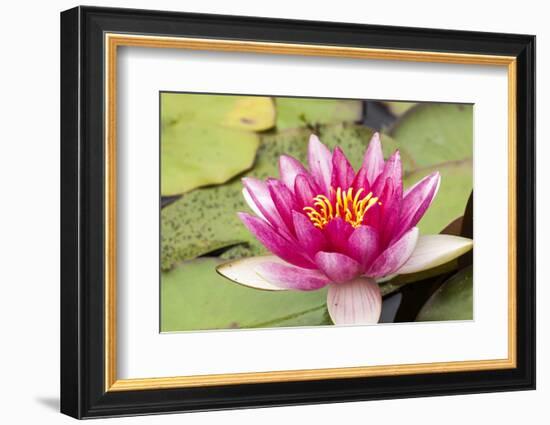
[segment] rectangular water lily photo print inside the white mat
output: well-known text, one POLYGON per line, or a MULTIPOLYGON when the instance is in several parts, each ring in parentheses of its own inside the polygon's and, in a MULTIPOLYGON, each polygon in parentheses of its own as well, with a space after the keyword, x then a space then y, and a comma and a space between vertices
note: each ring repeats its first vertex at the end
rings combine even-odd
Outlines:
POLYGON ((159 96, 161 332, 473 320, 473 105, 159 96))

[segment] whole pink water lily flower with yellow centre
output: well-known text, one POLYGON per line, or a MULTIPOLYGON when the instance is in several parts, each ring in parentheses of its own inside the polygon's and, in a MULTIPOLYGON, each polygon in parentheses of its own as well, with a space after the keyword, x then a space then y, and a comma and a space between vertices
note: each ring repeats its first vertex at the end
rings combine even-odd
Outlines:
POLYGON ((328 285, 335 324, 377 323, 380 281, 439 266, 472 248, 467 238, 419 235, 416 225, 437 194, 439 172, 404 191, 399 151, 384 161, 378 133, 357 172, 339 147, 331 152, 312 135, 308 168, 282 155, 279 173, 267 181, 244 178, 243 195, 255 215, 239 213, 272 255, 225 263, 218 272, 264 290, 328 285))

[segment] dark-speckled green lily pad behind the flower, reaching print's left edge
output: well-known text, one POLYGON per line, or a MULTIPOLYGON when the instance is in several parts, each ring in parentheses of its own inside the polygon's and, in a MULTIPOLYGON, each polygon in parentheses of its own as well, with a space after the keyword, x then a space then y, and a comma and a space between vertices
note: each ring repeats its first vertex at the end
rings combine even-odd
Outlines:
MULTIPOLYGON (((355 125, 325 126, 319 135, 329 147, 342 147, 358 167, 373 131, 355 125)), ((292 155, 305 163, 311 131, 294 129, 266 134, 261 138, 254 167, 245 173, 260 179, 278 176, 280 155, 292 155)), ((396 144, 382 135, 387 154, 396 144)), ((265 248, 252 236, 237 217, 238 211, 249 211, 242 197, 240 179, 186 193, 181 199, 161 211, 161 267, 167 270, 184 260, 190 260, 223 247, 241 243, 227 250, 222 258, 233 259, 265 253, 265 248)))

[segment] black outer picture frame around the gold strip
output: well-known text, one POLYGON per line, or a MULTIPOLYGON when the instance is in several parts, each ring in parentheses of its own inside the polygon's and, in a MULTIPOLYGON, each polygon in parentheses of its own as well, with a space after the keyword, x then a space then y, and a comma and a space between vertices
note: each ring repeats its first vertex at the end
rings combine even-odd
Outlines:
POLYGON ((535 388, 535 37, 76 7, 61 13, 61 412, 92 418, 535 388), (517 367, 105 391, 104 33, 517 58, 517 367))

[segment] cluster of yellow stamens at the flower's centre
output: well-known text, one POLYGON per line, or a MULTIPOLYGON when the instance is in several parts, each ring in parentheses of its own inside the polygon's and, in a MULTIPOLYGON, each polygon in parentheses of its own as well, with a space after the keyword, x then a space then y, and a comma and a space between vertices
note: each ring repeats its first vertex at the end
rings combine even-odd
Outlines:
POLYGON ((355 194, 352 187, 348 190, 342 190, 339 187, 336 191, 331 187, 330 192, 334 194, 334 201, 331 202, 325 195, 317 195, 313 198, 313 207, 304 207, 313 225, 319 229, 336 217, 343 218, 353 227, 359 227, 363 223, 366 212, 378 201, 378 198, 372 196, 372 192, 362 196, 363 188, 355 194))

